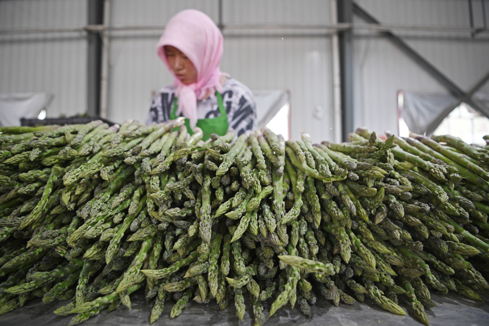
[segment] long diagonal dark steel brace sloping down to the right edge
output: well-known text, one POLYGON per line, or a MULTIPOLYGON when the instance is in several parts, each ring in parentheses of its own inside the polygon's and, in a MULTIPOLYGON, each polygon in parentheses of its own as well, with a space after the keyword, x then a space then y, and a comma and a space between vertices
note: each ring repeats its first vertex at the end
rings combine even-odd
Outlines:
MULTIPOLYGON (((341 2, 341 1, 340 1, 341 2)), ((364 19, 369 23, 380 24, 380 22, 366 12, 362 7, 360 7, 355 2, 353 3, 353 9, 356 15, 364 19)), ((427 73, 429 73, 433 78, 435 78, 440 84, 442 84, 453 96, 457 99, 466 99, 468 105, 472 108, 485 112, 487 109, 481 107, 479 104, 472 101, 470 97, 467 97, 467 93, 464 92, 460 87, 455 85, 451 80, 448 79, 440 70, 435 66, 431 65, 426 59, 422 57, 418 52, 416 52, 407 43, 402 41, 402 39, 391 32, 380 32, 380 35, 385 36, 391 43, 396 45, 402 52, 404 52, 408 57, 414 60, 418 65, 420 65, 427 73)))

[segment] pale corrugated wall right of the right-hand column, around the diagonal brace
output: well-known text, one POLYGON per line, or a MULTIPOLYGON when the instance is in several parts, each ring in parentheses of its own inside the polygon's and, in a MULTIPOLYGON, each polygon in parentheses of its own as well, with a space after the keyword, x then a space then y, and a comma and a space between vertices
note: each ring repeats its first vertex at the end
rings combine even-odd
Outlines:
MULTIPOLYGON (((445 27, 446 30, 395 30, 461 89, 467 91, 489 71, 489 40, 448 27, 470 27, 465 0, 356 0, 382 24, 445 27)), ((481 1, 472 1, 475 27, 483 27, 481 1)), ((488 10, 489 1, 486 1, 488 10)), ((489 12, 486 14, 489 17, 489 12)), ((364 23, 359 18, 356 23, 364 23)), ((375 32, 356 31, 354 39, 355 126, 398 132, 397 92, 447 93, 435 78, 375 32)), ((489 91, 489 83, 481 90, 489 91)))

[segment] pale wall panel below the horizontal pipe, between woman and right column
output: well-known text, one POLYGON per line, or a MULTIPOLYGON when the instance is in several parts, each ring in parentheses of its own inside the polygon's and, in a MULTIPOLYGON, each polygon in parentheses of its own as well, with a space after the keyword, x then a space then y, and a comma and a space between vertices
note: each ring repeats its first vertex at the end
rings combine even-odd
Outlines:
POLYGON ((222 71, 251 89, 287 89, 291 138, 333 138, 331 42, 327 37, 228 38, 222 71), (316 108, 319 111, 316 111, 316 108))

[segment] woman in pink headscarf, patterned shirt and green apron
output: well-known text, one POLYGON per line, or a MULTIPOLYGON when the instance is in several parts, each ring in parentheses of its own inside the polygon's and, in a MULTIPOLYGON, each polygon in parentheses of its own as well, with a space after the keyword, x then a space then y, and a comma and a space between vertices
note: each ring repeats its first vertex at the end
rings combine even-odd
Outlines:
POLYGON ((228 129, 236 136, 256 127, 253 94, 236 79, 222 73, 222 33, 204 13, 186 9, 166 25, 157 53, 175 77, 153 99, 146 124, 184 116, 187 130, 197 126, 203 139, 228 129))

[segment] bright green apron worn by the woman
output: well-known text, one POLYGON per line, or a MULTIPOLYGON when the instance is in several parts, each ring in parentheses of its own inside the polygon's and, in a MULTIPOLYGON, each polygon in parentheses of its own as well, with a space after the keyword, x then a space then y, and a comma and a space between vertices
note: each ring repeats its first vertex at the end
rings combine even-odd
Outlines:
MULTIPOLYGON (((219 113, 220 115, 218 117, 212 118, 212 119, 199 119, 197 120, 197 127, 199 127, 202 132, 202 140, 207 140, 210 138, 212 133, 217 133, 220 136, 223 136, 227 132, 227 114, 226 114, 226 109, 224 109, 224 105, 222 104, 222 95, 218 91, 216 91, 216 97, 217 97, 217 103, 219 106, 219 113)), ((177 119, 178 116, 175 112, 177 112, 177 102, 178 98, 175 98, 175 103, 173 105, 172 112, 170 114, 170 119, 174 120, 177 119)), ((194 131, 190 127, 190 120, 188 118, 185 118, 185 126, 187 127, 187 131, 189 134, 193 134, 194 131)))

